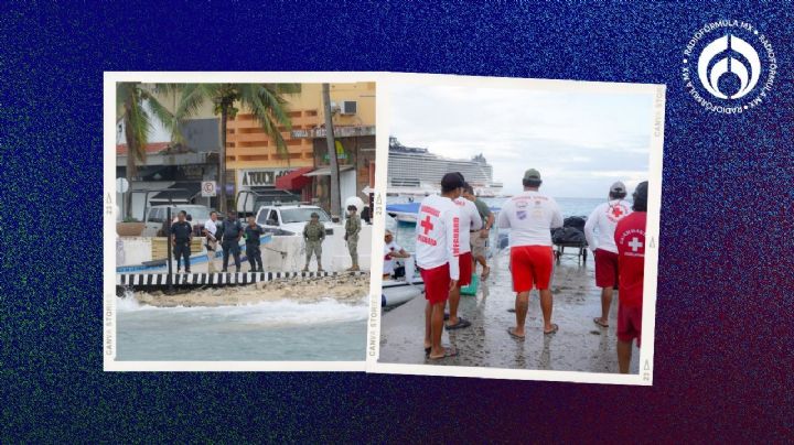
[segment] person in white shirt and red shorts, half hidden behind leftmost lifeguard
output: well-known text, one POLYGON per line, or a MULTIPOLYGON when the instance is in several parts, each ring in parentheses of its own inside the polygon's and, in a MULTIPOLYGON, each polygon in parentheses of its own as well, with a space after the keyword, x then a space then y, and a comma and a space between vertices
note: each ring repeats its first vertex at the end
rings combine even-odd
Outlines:
MULTIPOLYGON (((463 186, 460 193, 463 193, 465 188, 465 180, 463 175, 458 173, 463 182, 463 186)), ((453 200, 460 210, 460 280, 458 285, 452 289, 449 297, 450 314, 449 322, 447 323, 447 330, 462 329, 471 326, 471 322, 463 317, 458 316, 458 306, 460 305, 460 290, 462 286, 471 284, 472 267, 474 265, 474 259, 471 254, 471 236, 480 235, 482 228, 482 218, 476 206, 471 200, 464 197, 458 197, 453 200)))

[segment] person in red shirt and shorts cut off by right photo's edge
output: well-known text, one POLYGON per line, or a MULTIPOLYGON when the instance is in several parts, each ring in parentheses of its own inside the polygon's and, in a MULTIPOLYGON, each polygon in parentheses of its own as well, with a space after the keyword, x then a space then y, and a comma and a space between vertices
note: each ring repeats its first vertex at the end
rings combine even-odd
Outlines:
POLYGON ((631 340, 636 338, 637 348, 642 334, 642 297, 645 273, 645 221, 647 219, 647 181, 634 189, 631 215, 621 219, 615 228, 618 246, 619 291, 618 301, 618 366, 629 373, 631 340))

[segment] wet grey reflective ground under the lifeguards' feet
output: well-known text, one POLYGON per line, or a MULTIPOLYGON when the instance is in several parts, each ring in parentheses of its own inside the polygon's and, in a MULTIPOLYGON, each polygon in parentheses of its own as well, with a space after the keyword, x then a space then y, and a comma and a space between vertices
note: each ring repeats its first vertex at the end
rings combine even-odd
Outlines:
MULTIPOLYGON (((596 287, 592 256, 587 265, 578 265, 576 257, 562 257, 551 284, 554 313, 551 323, 559 325, 555 335, 543 334, 543 314, 537 291, 529 295, 526 339, 512 338, 506 329, 515 326, 515 307, 507 270, 507 251, 489 261, 491 276, 480 282, 475 296, 462 295, 459 315, 472 325, 464 329, 446 330, 443 345, 459 351, 457 357, 441 360, 425 358, 423 295, 382 316, 380 357, 386 363, 469 366, 509 369, 618 372, 615 326, 618 292, 612 301, 609 327, 593 323, 601 315, 601 290, 596 287)), ((478 272, 482 272, 478 268, 478 272)), ((630 372, 639 372, 640 351, 634 346, 630 372)))

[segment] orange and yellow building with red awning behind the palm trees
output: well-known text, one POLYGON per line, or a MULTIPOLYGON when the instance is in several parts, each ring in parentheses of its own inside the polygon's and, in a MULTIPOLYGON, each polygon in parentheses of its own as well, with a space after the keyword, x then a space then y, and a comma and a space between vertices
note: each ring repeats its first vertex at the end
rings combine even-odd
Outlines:
MULTIPOLYGON (((366 200, 362 191, 373 183, 375 169, 375 83, 331 84, 330 93, 341 196, 366 200)), ((328 209, 330 169, 322 84, 302 84, 300 93, 285 99, 292 129, 279 130, 288 155, 280 155, 254 116, 240 110, 227 127, 228 176, 235 178, 236 192, 310 202, 328 209)))

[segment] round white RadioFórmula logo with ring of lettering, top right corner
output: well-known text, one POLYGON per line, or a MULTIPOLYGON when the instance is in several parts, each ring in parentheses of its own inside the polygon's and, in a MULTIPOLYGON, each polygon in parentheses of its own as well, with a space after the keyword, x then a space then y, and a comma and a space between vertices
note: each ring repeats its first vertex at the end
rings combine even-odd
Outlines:
POLYGON ((684 51, 687 93, 709 111, 736 115, 769 99, 777 70, 774 48, 752 24, 720 20, 698 30, 684 51))

